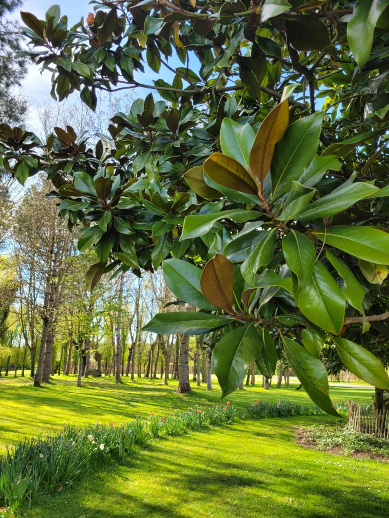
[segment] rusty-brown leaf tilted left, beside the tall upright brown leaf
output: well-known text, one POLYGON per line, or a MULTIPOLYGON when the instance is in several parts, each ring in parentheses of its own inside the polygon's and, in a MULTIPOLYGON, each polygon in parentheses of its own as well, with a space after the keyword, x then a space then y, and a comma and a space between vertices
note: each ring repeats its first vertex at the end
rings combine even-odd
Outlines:
POLYGON ((257 185, 246 169, 222 153, 213 153, 203 164, 205 174, 216 183, 228 189, 234 189, 246 194, 257 194, 257 185))

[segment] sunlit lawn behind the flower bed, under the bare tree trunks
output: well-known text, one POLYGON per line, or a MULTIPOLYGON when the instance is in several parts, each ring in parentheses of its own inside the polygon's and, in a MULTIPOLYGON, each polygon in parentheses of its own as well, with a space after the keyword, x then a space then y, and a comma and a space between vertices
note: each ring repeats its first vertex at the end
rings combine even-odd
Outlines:
MULTIPOLYGON (((82 425, 99 421, 123 423, 136 416, 146 418, 151 412, 167 415, 175 410, 186 410, 191 405, 207 405, 217 401, 221 392, 216 380, 213 391, 206 391, 205 385, 197 387, 192 383, 192 393, 176 395, 177 381, 169 380, 169 386, 160 379, 131 381, 123 378, 121 385, 112 378, 89 378, 82 380, 83 386, 75 386, 76 376, 52 378, 52 382, 36 389, 28 378, 0 378, 0 450, 7 444, 15 444, 25 436, 46 434, 61 430, 66 424, 82 425)), ((277 402, 279 399, 311 404, 303 389, 294 390, 260 386, 245 387, 228 396, 238 409, 245 409, 253 399, 277 402)), ((352 386, 330 386, 333 400, 371 401, 372 389, 358 389, 352 386)))

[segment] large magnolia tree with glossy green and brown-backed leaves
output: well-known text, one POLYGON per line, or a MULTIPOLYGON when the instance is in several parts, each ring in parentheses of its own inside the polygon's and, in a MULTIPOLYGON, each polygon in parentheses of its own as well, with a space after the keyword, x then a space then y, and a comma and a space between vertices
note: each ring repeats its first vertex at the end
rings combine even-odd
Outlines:
POLYGON ((162 265, 199 311, 144 329, 201 335, 223 396, 252 362, 270 376, 281 348, 328 413, 323 347, 389 389, 376 328, 364 338, 389 329, 389 0, 92 4, 71 28, 59 6, 21 13, 23 54, 50 71, 52 97, 161 99, 117 113, 94 149, 70 126, 45 142, 0 126, 4 167, 21 183, 46 171, 79 250, 94 248, 89 289, 162 265), (146 63, 171 84, 140 82, 146 63))

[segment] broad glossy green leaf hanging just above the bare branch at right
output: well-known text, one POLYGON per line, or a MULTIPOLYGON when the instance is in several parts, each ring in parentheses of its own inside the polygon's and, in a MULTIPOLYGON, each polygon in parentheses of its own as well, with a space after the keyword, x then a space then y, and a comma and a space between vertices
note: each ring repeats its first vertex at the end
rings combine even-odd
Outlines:
POLYGON ((317 326, 338 334, 343 326, 345 300, 340 287, 329 271, 316 261, 312 278, 301 290, 295 291, 301 313, 317 326))

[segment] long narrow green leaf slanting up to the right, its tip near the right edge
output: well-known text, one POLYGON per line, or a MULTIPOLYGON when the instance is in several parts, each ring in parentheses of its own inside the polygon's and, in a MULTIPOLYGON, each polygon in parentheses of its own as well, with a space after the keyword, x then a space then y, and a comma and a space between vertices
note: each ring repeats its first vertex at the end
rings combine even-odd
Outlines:
POLYGON ((299 214, 295 215, 297 221, 309 221, 316 218, 326 218, 348 209, 360 199, 378 191, 378 187, 371 183, 356 182, 340 186, 330 194, 310 203, 299 214))

